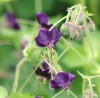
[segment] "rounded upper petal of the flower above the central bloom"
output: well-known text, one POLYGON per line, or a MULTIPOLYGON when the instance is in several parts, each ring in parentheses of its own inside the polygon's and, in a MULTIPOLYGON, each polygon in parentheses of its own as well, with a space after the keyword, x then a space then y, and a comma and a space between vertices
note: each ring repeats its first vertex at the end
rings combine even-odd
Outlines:
POLYGON ((48 23, 48 16, 44 13, 41 12, 37 13, 36 19, 40 25, 48 23))

